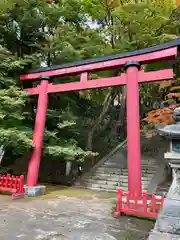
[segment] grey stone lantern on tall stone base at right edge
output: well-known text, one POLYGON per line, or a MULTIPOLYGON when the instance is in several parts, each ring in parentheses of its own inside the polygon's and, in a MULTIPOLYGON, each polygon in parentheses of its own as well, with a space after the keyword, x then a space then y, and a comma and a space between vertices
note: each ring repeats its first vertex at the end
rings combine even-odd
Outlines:
POLYGON ((169 140, 164 158, 172 168, 173 181, 148 240, 180 239, 180 107, 174 110, 173 119, 176 124, 159 128, 160 135, 169 140))

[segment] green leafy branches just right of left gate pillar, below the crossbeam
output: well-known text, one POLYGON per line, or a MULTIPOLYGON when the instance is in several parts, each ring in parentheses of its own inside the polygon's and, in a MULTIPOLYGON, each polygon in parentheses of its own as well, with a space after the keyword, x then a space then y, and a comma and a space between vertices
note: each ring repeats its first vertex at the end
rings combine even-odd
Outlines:
MULTIPOLYGON (((49 112, 48 119, 52 119, 52 113, 53 111, 49 112)), ((51 122, 51 125, 47 124, 44 138, 44 154, 69 161, 83 161, 87 156, 97 155, 97 153, 91 151, 84 151, 78 146, 78 141, 75 140, 80 130, 76 124, 77 120, 79 120, 79 118, 75 117, 73 113, 67 109, 61 111, 59 115, 56 115, 56 119, 54 119, 53 123, 51 122), (50 130, 53 125, 57 126, 55 131, 50 130)), ((82 125, 80 127, 82 127, 82 125)))

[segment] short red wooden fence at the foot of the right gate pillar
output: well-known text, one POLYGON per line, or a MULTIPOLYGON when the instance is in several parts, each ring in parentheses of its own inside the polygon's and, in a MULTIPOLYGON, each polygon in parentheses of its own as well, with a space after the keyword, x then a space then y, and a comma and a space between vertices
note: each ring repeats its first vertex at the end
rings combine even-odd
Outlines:
POLYGON ((163 207, 164 197, 143 192, 141 196, 133 196, 129 192, 123 193, 117 189, 117 209, 115 217, 122 213, 140 217, 157 218, 159 210, 163 207))

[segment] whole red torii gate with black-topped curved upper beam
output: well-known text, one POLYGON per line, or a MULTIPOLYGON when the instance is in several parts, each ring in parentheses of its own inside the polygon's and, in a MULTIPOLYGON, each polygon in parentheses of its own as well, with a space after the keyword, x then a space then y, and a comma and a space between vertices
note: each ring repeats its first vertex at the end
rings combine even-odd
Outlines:
POLYGON ((132 195, 140 195, 141 187, 141 153, 140 153, 140 119, 139 119, 139 83, 173 79, 173 69, 144 72, 142 64, 176 59, 180 39, 146 49, 116 54, 112 56, 79 61, 60 66, 31 70, 21 75, 20 79, 39 80, 40 85, 28 88, 30 95, 39 95, 35 127, 34 150, 32 152, 27 176, 27 186, 37 185, 42 153, 43 135, 48 108, 48 93, 77 91, 93 88, 105 88, 127 85, 127 147, 128 147, 128 189, 132 195), (108 69, 125 69, 120 76, 88 79, 92 72, 108 69), (52 76, 80 76, 80 81, 62 84, 50 82, 52 76))

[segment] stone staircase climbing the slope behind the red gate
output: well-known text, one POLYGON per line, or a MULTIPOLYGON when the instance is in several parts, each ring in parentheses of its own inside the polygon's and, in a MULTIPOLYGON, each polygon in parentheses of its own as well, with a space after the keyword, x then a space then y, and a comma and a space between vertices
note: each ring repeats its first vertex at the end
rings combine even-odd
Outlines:
MULTIPOLYGON (((103 158, 89 173, 85 173, 76 182, 75 186, 108 192, 115 192, 117 187, 122 187, 124 191, 127 191, 128 170, 124 144, 119 145, 108 156, 103 158)), ((142 156, 142 187, 144 191, 148 190, 148 186, 160 164, 160 161, 154 158, 148 157, 147 159, 142 156)))

